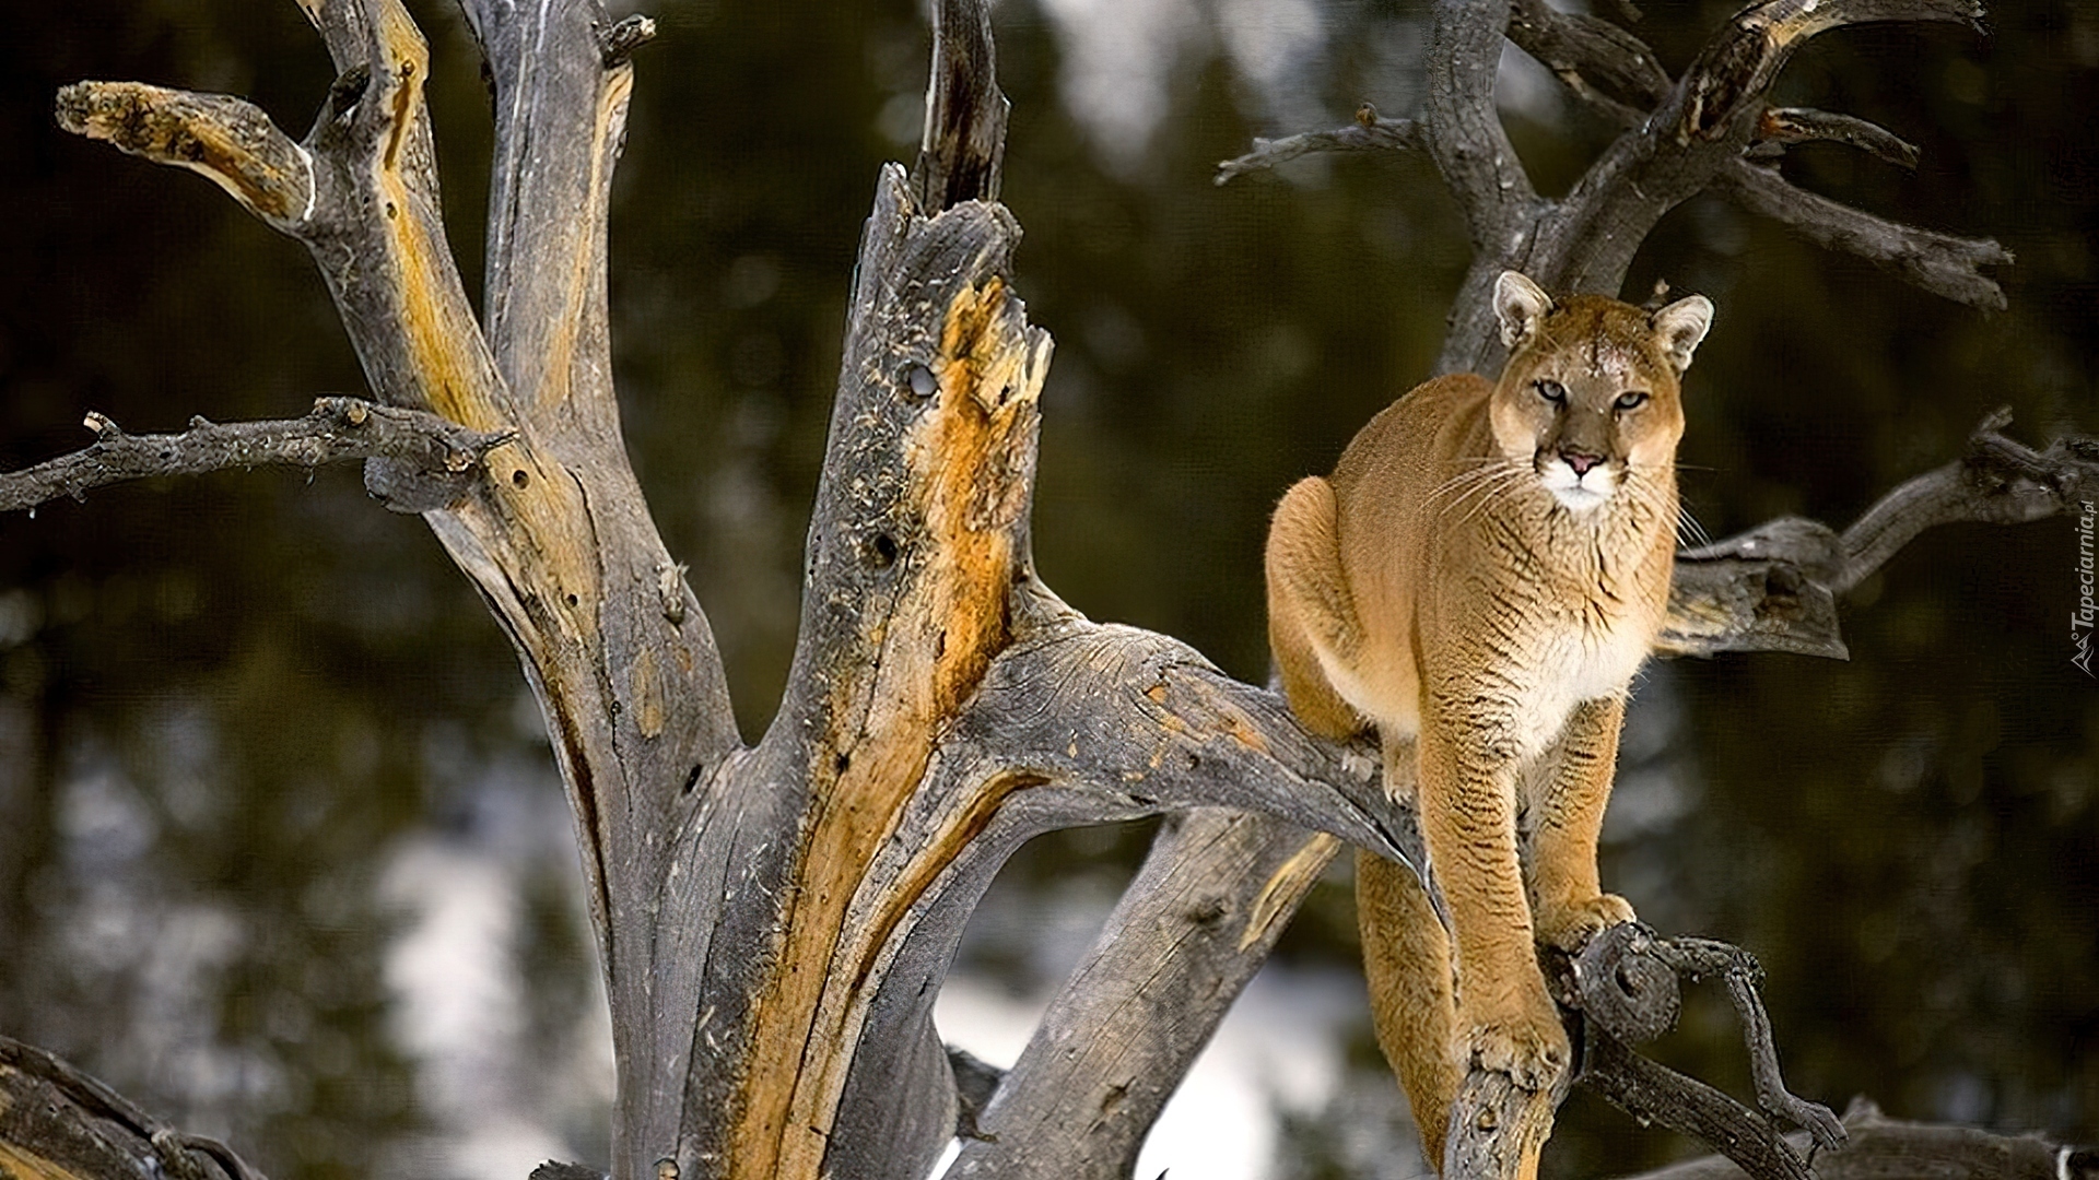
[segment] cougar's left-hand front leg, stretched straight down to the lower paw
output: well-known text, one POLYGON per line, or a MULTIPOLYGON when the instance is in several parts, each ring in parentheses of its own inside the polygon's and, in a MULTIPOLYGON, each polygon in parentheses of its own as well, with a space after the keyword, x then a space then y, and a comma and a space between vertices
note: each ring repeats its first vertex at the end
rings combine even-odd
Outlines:
POLYGON ((1572 1060, 1545 993, 1515 852, 1511 724, 1476 693, 1450 693, 1421 718, 1421 836, 1450 909, 1457 1037, 1463 1058, 1545 1090, 1572 1060))

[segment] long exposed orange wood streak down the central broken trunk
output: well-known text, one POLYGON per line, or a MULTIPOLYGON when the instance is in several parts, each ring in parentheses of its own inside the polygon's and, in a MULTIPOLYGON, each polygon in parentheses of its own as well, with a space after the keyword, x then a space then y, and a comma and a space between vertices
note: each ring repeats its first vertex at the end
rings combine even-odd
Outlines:
MULTIPOLYGON (((900 878, 869 880, 926 775, 940 726, 1010 638, 1018 472, 1033 447, 1043 344, 1031 340, 1003 279, 963 290, 940 336, 940 399, 907 439, 909 487, 926 538, 905 554, 909 590, 871 624, 871 680, 833 701, 833 735, 800 861, 779 970, 754 1012, 751 1077, 733 1132, 733 1176, 817 1176, 846 1069, 890 932, 997 800, 963 806, 900 878), (879 638, 875 638, 879 636, 879 638)), ((1012 792, 1024 779, 989 783, 1012 792)))

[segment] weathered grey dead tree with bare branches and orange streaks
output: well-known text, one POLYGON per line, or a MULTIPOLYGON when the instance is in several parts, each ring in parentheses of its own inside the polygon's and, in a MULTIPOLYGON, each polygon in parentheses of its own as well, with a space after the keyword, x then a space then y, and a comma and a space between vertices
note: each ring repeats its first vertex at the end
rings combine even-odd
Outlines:
MULTIPOLYGON (((756 745, 628 466, 611 384, 607 193, 651 23, 609 23, 594 0, 462 0, 495 88, 476 319, 439 216, 420 31, 401 0, 300 2, 338 71, 302 141, 246 101, 130 82, 69 86, 59 118, 210 176, 306 244, 376 405, 151 439, 92 416, 97 443, 8 477, 4 504, 145 472, 365 458, 367 487, 424 517, 516 645, 573 804, 613 1012, 613 1176, 915 1180, 957 1121, 959 1176, 1127 1176, 1335 842, 1423 861, 1371 752, 1308 737, 1274 693, 1173 638, 1094 624, 1035 575, 1050 336, 1008 281, 1020 227, 997 204, 1005 101, 982 0, 936 6, 924 149, 877 181, 789 687, 756 745), (1159 813, 1175 819, 1018 1067, 951 1060, 932 1002, 999 865, 1041 831, 1159 813)), ((1979 267, 2009 260, 1994 244, 1883 223, 1755 164, 1795 139, 1891 139, 1765 105, 1809 36, 1977 15, 1769 0, 1671 80, 1616 25, 1543 0, 1444 0, 1419 120, 1364 111, 1228 170, 1320 147, 1429 151, 1476 246, 1444 370, 1497 361, 1484 292, 1499 269, 1616 290, 1662 212, 1704 189, 1988 307, 2002 296, 1979 267), (1505 36, 1625 120, 1562 202, 1532 191, 1494 120, 1505 36)), ((1669 649, 1841 655, 1835 596, 1918 529, 2038 519, 2095 493, 2089 443, 2030 451, 1998 426, 1845 533, 1778 521, 1683 554, 1669 649)), ((1738 951, 1625 928, 1557 966, 1587 1079, 1620 1104, 1698 1130, 1757 1176, 1805 1176, 1767 1119, 1625 1048, 1667 1020, 1679 970, 1715 972, 1761 1041, 1765 1109, 1839 1138, 1778 1083, 1738 951), (1631 1006, 1627 981, 1644 981, 1631 1006)), ((105 1174, 202 1174, 193 1146, 243 1174, 31 1050, 0 1056, 0 1092, 38 1096, 0 1102, 0 1153, 84 1161, 67 1151, 130 1136, 157 1163, 113 1149, 132 1170, 105 1174)), ((1476 1071, 1455 1174, 1511 1174, 1557 1096, 1476 1071)))

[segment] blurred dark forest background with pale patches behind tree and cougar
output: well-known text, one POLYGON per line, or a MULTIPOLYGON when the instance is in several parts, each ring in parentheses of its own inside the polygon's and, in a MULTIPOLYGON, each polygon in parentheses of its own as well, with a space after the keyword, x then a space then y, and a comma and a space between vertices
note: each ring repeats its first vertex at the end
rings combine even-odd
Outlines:
MULTIPOLYGON (((460 17, 411 8, 479 290, 487 97, 460 17)), ((1732 8, 1648 0, 1639 34, 1681 69, 1732 8)), ((928 29, 909 0, 653 15, 613 204, 621 409, 756 737, 787 668, 858 227, 879 162, 915 151, 928 29)), ((1914 174, 1835 145, 1784 168, 2002 239, 2007 313, 1711 197, 1635 262, 1633 298, 1667 277, 1719 304, 1681 456, 1715 538, 1786 512, 1841 527, 2000 403, 2028 441, 2099 430, 2099 8, 2002 0, 1990 25, 1830 34, 1778 94, 1918 143, 1914 174)), ((1005 0, 997 27, 1018 290, 1058 338, 1039 567, 1085 613, 1261 680, 1268 508, 1427 374, 1467 244, 1421 157, 1222 189, 1211 172, 1364 99, 1411 113, 1425 4, 1005 0)), ((80 78, 246 94, 298 134, 330 67, 288 2, 10 10, 0 464, 84 445, 86 409, 143 433, 361 391, 302 248, 195 176, 52 126, 80 78)), ((1503 118, 1545 191, 1610 139, 1513 50, 1503 118)), ((1662 930, 1761 955, 1801 1094, 2099 1138, 2099 684, 2070 663, 2076 552, 2072 521, 1927 533, 1845 605, 1849 663, 1734 655, 1641 682, 1604 880, 1662 930)), ((957 1027, 1003 1012, 1001 1035, 1024 1035, 1012 1012, 1083 947, 1144 836, 1016 861, 951 985, 957 1027)), ((1335 878, 1249 995, 1259 1029, 1220 1041, 1261 1081, 1175 1115, 1241 1144, 1238 1170, 1157 1167, 1423 1174, 1354 962, 1335 878)), ((602 999, 537 710, 466 580, 355 468, 0 519, 0 1031, 279 1180, 605 1159, 602 999)), ((1721 999, 1660 1052, 1746 1094, 1721 999)), ((1683 1151, 1576 1096, 1547 1167, 1683 1151)))

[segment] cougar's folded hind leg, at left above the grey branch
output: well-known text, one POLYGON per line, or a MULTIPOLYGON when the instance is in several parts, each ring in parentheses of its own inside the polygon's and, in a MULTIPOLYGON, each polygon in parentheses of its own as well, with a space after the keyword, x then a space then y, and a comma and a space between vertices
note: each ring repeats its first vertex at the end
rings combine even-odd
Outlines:
POLYGON ((1268 645, 1282 674, 1291 712, 1312 733, 1345 739, 1364 729, 1362 716, 1335 693, 1320 668, 1320 649, 1354 661, 1360 645, 1356 609, 1341 575, 1333 485, 1301 479, 1282 493, 1268 525, 1268 645))

